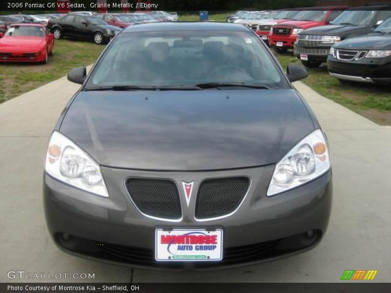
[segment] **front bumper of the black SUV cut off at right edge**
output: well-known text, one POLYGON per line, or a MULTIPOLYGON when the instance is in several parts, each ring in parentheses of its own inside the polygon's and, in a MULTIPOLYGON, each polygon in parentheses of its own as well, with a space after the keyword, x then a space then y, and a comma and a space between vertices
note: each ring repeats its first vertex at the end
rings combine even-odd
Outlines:
POLYGON ((342 61, 329 55, 327 68, 331 76, 339 79, 363 83, 391 84, 391 57, 342 61))

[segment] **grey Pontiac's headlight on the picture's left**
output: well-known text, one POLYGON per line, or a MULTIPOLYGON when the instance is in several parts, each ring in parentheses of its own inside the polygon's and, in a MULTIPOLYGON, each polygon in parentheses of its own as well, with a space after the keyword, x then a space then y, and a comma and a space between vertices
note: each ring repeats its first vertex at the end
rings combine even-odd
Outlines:
POLYGON ((109 196, 99 165, 60 132, 54 131, 50 138, 45 171, 76 188, 109 196))

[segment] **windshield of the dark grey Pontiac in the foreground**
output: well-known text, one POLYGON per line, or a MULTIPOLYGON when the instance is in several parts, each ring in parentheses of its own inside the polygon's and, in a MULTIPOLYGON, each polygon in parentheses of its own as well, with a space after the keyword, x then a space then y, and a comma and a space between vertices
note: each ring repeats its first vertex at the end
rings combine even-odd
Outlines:
POLYGON ((96 65, 87 87, 236 83, 286 86, 251 32, 168 31, 120 35, 96 65))

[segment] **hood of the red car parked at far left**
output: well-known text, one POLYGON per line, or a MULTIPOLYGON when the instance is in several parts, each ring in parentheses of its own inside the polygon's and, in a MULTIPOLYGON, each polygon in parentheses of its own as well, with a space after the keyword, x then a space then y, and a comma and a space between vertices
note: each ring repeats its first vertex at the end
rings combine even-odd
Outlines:
POLYGON ((0 39, 0 51, 40 51, 44 43, 41 37, 3 37, 0 39))

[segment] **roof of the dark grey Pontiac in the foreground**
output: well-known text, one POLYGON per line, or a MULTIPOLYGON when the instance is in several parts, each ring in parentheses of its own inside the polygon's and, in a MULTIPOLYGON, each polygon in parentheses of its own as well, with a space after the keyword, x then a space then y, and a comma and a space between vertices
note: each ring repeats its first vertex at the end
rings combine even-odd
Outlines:
POLYGON ((242 31, 248 32, 250 29, 239 23, 230 22, 202 22, 202 21, 183 21, 183 22, 155 22, 131 25, 122 32, 150 32, 150 31, 175 31, 175 30, 210 30, 210 31, 242 31))

